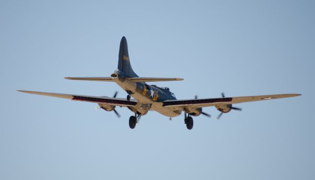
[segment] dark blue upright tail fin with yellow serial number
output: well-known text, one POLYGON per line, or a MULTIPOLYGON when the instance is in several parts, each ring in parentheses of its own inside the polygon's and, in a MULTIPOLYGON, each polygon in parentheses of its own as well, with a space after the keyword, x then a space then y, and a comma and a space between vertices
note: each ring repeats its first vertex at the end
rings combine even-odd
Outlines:
POLYGON ((125 36, 123 36, 122 40, 120 41, 118 69, 129 77, 138 77, 138 75, 133 72, 130 64, 128 55, 128 45, 125 36))

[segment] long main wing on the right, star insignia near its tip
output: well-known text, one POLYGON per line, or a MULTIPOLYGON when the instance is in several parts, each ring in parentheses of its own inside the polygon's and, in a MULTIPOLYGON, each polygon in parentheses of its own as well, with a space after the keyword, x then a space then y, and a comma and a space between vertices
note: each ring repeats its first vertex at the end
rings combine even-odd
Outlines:
POLYGON ((208 106, 216 106, 219 104, 236 104, 242 102, 262 101, 269 99, 279 99, 285 97, 294 97, 301 94, 273 94, 273 95, 256 95, 256 96, 240 96, 240 97, 221 97, 209 99, 185 99, 185 100, 166 100, 163 106, 172 106, 182 109, 184 107, 200 108, 208 106))

